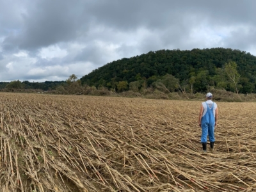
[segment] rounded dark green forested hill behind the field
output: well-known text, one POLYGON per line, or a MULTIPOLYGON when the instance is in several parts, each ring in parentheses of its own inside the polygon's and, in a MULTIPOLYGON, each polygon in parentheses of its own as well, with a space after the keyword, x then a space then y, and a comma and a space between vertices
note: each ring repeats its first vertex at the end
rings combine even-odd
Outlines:
POLYGON ((113 61, 81 78, 82 84, 124 90, 152 86, 168 92, 205 92, 209 87, 240 93, 255 90, 256 57, 236 49, 159 50, 113 61))

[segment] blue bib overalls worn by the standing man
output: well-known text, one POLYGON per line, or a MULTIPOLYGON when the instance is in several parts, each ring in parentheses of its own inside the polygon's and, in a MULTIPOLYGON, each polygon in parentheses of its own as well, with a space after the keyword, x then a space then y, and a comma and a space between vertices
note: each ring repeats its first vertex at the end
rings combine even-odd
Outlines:
POLYGON ((202 136, 201 143, 207 142, 207 135, 209 134, 210 142, 214 142, 214 125, 215 125, 215 117, 213 115, 214 103, 212 103, 212 108, 210 109, 208 104, 205 102, 207 106, 207 111, 204 116, 202 116, 201 127, 202 127, 202 136))

